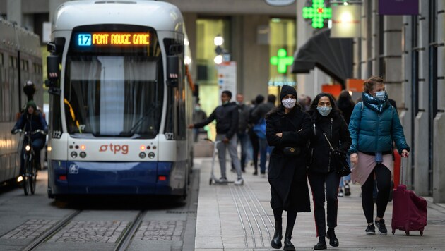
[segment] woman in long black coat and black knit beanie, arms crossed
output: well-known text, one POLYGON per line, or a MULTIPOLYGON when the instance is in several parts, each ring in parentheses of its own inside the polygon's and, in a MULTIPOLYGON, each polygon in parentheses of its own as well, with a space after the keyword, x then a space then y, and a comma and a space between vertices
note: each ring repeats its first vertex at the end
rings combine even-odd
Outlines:
POLYGON ((271 207, 275 218, 275 234, 271 245, 281 247, 283 210, 287 211, 284 250, 295 250, 290 242, 297 212, 310 212, 307 187, 306 145, 311 133, 311 119, 301 111, 294 87, 283 85, 280 106, 266 114, 266 137, 273 146, 269 161, 271 207), (285 147, 293 147, 296 156, 285 155, 285 147))

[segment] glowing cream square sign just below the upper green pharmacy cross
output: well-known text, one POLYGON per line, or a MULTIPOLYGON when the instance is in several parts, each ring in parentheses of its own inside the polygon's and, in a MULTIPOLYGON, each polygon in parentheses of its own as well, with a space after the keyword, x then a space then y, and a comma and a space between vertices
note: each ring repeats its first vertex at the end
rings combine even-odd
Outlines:
POLYGON ((332 6, 331 37, 360 37, 360 5, 332 6))

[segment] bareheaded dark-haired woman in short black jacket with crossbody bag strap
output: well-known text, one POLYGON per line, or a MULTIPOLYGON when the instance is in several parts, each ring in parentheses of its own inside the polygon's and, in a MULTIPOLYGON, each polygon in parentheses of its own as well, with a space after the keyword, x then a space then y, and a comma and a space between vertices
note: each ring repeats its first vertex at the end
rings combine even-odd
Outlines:
POLYGON ((319 243, 314 250, 326 249, 325 236, 329 244, 338 247, 338 239, 334 228, 337 226, 338 212, 338 185, 340 176, 336 172, 333 149, 346 154, 351 145, 351 137, 345 119, 336 108, 336 103, 328 93, 318 94, 308 111, 312 118, 312 133, 309 144, 309 169, 307 177, 311 185, 314 200, 314 218, 316 233, 319 243), (326 137, 328 140, 326 140, 326 137), (325 188, 326 185, 326 188, 325 188), (328 202, 327 218, 328 232, 326 233, 326 220, 324 212, 324 201, 328 202))

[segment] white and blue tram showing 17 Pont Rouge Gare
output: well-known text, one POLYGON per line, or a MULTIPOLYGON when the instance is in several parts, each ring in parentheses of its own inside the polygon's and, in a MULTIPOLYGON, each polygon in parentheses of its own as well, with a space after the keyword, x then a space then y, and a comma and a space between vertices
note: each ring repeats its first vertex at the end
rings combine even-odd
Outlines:
POLYGON ((160 1, 69 1, 47 58, 48 195, 187 193, 184 20, 160 1))

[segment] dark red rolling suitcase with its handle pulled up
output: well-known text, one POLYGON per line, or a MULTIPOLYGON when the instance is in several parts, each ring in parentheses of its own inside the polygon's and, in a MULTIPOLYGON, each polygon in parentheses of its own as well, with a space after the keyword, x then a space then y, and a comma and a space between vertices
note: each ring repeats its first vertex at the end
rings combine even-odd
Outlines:
MULTIPOLYGON (((403 162, 402 158, 401 162, 403 162)), ((403 177, 403 164, 401 165, 401 179, 403 177)), ((405 231, 410 235, 410 231, 420 231, 427 226, 427 200, 415 195, 415 192, 406 189, 406 185, 398 185, 393 190, 393 219, 391 228, 393 234, 396 229, 405 231)))

